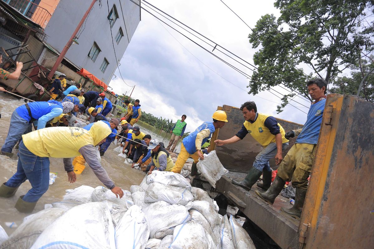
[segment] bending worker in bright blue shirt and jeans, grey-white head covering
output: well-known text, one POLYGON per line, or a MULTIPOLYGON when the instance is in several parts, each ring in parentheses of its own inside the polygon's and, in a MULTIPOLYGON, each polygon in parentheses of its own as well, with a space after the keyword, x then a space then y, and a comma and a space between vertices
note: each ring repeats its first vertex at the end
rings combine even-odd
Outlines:
POLYGON ((23 134, 31 132, 32 124, 37 130, 45 128, 48 121, 73 109, 73 103, 61 103, 56 100, 32 102, 17 107, 10 118, 9 131, 1 147, 1 154, 11 158, 13 147, 21 140, 23 134))

